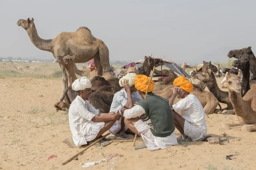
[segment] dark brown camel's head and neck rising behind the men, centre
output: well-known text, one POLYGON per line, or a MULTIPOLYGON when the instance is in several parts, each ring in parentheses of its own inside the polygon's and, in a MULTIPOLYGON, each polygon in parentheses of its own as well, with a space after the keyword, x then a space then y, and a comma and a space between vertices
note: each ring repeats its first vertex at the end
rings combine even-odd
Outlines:
MULTIPOLYGON (((164 65, 164 62, 162 59, 153 59, 151 57, 144 57, 144 62, 142 67, 139 68, 139 74, 144 74, 147 77, 149 77, 151 70, 153 70, 154 66, 162 66, 164 65)), ((153 73, 154 74, 154 73, 153 73)))

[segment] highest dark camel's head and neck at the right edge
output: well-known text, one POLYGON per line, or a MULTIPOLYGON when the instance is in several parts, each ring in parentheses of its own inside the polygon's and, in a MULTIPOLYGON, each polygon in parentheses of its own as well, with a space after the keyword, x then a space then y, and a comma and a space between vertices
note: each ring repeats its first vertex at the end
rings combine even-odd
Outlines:
POLYGON ((253 51, 251 47, 247 48, 242 48, 240 50, 231 50, 228 54, 227 57, 229 58, 236 58, 236 59, 243 59, 243 58, 249 58, 250 61, 250 71, 253 74, 253 79, 256 79, 256 58, 253 54, 253 51))

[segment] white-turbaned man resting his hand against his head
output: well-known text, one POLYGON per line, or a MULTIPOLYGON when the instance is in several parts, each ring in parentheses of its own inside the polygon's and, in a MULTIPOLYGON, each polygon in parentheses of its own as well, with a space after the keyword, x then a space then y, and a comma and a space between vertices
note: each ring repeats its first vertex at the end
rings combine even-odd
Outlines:
MULTIPOLYGON (((133 107, 134 102, 138 102, 142 99, 134 86, 136 76, 137 74, 135 73, 128 73, 119 80, 119 85, 123 87, 123 89, 114 95, 110 112, 119 111, 119 113, 122 113, 121 109, 123 107, 130 109, 133 107), (128 96, 131 97, 129 98, 128 96)), ((128 136, 125 134, 126 130, 128 130, 128 127, 125 126, 124 118, 121 116, 108 131, 115 136, 128 139, 128 136)))

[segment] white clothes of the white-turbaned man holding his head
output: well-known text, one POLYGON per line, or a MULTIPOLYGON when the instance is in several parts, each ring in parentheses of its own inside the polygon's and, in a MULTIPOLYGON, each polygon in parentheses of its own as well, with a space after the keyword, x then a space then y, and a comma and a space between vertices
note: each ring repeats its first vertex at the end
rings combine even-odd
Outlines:
MULTIPOLYGON (((111 104, 111 108, 109 112, 115 112, 119 111, 119 113, 121 113, 121 109, 122 107, 124 107, 127 103, 127 93, 125 91, 125 89, 123 88, 121 91, 116 92, 116 94, 113 97, 113 102, 111 104)), ((133 92, 131 94, 131 99, 132 102, 138 102, 142 99, 142 97, 140 96, 140 94, 136 91, 133 92)), ((122 113, 121 113, 122 114, 122 113)), ((122 117, 120 117, 119 120, 117 120, 115 122, 115 124, 108 130, 111 134, 116 135, 116 133, 119 132, 119 130, 121 129, 121 122, 122 122, 122 117)), ((125 131, 128 129, 127 126, 125 126, 125 131)))

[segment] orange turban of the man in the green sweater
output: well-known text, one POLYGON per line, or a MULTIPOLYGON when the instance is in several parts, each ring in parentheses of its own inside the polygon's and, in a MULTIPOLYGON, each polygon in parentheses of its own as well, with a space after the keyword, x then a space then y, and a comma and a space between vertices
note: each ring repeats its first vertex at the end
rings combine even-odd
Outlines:
MULTIPOLYGON (((145 75, 142 75, 142 74, 137 75, 134 79, 135 88, 137 88, 137 90, 139 91, 146 93, 149 80, 150 78, 145 75)), ((148 92, 153 91, 153 89, 154 89, 154 82, 151 81, 148 88, 148 92)))

